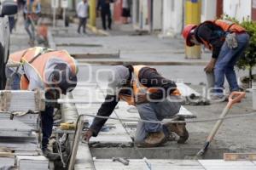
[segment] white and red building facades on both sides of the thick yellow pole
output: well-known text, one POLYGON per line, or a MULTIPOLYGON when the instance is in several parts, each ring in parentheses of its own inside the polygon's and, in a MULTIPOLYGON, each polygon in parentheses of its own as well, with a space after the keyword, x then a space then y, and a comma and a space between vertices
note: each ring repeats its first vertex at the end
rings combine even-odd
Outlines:
MULTIPOLYGON (((161 35, 181 34, 185 20, 185 3, 201 2, 201 21, 228 14, 237 20, 256 20, 256 0, 132 0, 131 21, 136 30, 161 31, 161 35)), ((121 20, 121 2, 116 0, 113 16, 121 20)))

